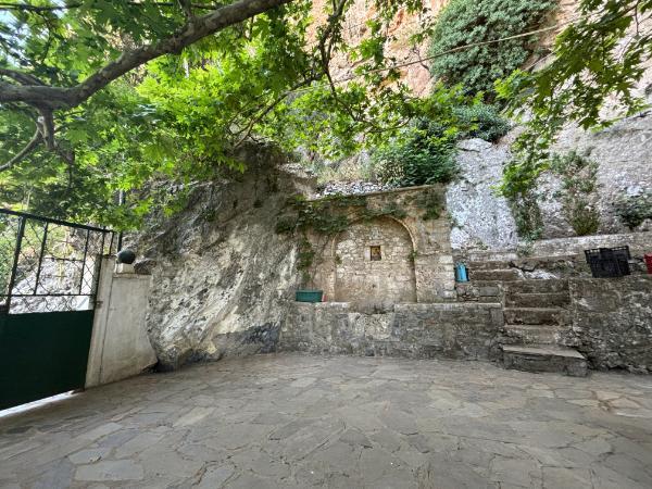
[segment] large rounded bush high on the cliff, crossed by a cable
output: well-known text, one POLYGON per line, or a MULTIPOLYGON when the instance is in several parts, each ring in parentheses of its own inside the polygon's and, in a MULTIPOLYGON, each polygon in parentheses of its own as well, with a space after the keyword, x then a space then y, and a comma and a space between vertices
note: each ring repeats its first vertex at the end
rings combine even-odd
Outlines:
MULTIPOLYGON (((430 54, 534 30, 556 7, 555 0, 452 0, 432 32, 430 54)), ((536 37, 477 46, 435 58, 431 73, 448 85, 462 84, 472 93, 493 99, 493 82, 523 67, 536 37)))

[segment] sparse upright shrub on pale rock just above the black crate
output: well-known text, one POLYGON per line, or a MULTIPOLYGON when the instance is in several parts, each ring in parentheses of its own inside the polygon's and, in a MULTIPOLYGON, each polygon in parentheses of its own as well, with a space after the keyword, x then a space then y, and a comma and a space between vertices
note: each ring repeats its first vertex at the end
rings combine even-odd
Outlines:
POLYGON ((570 151, 555 155, 551 170, 561 177, 561 198, 564 217, 577 236, 593 235, 600 227, 600 213, 595 206, 598 163, 570 151))

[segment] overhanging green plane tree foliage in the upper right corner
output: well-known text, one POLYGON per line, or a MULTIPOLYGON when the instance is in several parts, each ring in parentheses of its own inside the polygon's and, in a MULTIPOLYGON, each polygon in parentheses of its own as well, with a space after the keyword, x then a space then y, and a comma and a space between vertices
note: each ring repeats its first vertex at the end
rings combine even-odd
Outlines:
POLYGON ((531 201, 566 125, 600 130, 648 106, 637 86, 652 55, 652 0, 581 0, 578 7, 548 64, 497 83, 509 114, 525 124, 500 186, 517 204, 531 201))

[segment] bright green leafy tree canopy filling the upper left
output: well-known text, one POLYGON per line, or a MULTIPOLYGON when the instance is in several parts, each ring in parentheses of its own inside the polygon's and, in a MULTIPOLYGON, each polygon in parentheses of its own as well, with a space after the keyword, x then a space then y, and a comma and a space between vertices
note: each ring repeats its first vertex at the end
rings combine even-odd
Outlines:
POLYGON ((2 2, 0 202, 133 227, 171 200, 158 183, 241 170, 233 154, 251 140, 338 156, 436 118, 385 53, 397 12, 422 2, 376 0, 358 46, 342 36, 351 4, 317 23, 308 0, 2 2), (333 79, 338 53, 354 80, 333 79))

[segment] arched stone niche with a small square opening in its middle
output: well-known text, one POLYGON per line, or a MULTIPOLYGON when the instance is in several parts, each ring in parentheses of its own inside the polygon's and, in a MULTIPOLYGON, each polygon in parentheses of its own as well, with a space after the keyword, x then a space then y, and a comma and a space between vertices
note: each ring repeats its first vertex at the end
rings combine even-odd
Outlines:
POLYGON ((335 300, 371 310, 416 302, 414 240, 398 220, 358 221, 333 242, 335 300), (380 260, 372 260, 380 247, 380 260))

